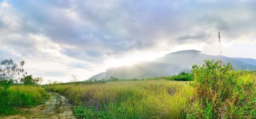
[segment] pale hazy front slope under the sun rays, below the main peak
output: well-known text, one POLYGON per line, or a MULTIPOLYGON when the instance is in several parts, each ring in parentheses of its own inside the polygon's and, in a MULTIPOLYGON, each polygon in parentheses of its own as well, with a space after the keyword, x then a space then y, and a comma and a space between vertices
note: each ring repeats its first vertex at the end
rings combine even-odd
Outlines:
POLYGON ((105 78, 109 79, 111 76, 121 79, 128 78, 148 78, 168 75, 169 73, 177 73, 177 66, 172 64, 165 64, 152 61, 140 61, 132 66, 119 66, 107 69, 106 72, 102 72, 91 78, 105 78), (105 74, 105 76, 103 76, 105 74))

